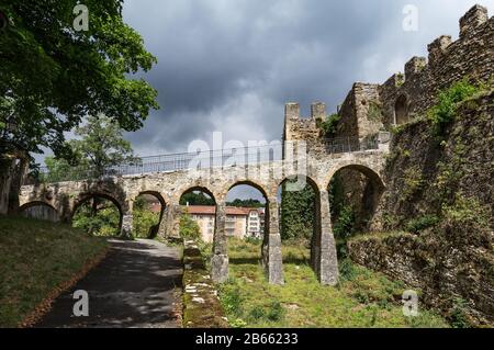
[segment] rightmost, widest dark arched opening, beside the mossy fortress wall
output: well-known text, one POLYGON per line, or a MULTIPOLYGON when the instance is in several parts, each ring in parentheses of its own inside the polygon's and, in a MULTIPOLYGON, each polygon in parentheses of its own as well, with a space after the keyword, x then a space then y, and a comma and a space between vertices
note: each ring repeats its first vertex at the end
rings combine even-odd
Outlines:
POLYGON ((363 166, 344 167, 333 176, 328 193, 339 259, 347 257, 349 238, 368 232, 383 191, 379 174, 363 166))

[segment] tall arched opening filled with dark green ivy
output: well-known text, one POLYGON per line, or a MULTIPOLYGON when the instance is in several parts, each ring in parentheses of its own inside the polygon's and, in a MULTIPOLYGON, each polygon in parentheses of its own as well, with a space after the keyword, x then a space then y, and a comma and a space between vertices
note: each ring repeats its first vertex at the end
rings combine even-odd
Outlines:
POLYGON ((278 189, 283 266, 289 276, 301 266, 317 272, 317 240, 321 235, 321 197, 317 184, 307 177, 285 179, 278 189))

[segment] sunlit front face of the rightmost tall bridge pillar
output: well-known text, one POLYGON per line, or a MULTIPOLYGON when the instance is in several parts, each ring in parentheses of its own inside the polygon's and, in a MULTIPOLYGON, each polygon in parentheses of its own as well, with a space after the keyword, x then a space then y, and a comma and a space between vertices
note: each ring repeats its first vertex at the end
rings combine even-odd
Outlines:
POLYGON ((336 285, 338 283, 338 259, 336 256, 336 242, 332 229, 332 214, 329 210, 329 194, 327 190, 321 191, 321 233, 317 252, 314 255, 317 263, 316 273, 323 285, 336 285))

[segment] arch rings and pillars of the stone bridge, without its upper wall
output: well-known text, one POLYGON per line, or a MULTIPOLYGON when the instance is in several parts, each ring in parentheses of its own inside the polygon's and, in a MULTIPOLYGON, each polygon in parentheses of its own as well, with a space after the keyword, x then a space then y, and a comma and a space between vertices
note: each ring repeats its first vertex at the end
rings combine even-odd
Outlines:
MULTIPOLYGON (((371 193, 372 206, 375 208, 380 199, 380 194, 383 191, 384 184, 382 183, 379 174, 372 169, 360 165, 350 165, 338 169, 338 171, 353 170, 363 174, 368 180, 373 191, 371 193)), ((337 172, 338 172, 337 171, 337 172)), ((327 179, 333 179, 337 173, 330 174, 327 179)), ((332 211, 329 203, 328 185, 321 187, 311 177, 288 177, 281 183, 274 183, 271 185, 262 185, 256 181, 245 180, 236 181, 231 185, 223 189, 215 189, 214 191, 206 184, 194 184, 184 190, 177 191, 175 200, 167 202, 165 195, 160 191, 146 190, 139 192, 126 202, 113 197, 109 193, 91 192, 85 193, 78 196, 75 202, 74 212, 78 206, 87 202, 91 197, 100 196, 112 202, 120 213, 120 232, 132 227, 132 212, 133 203, 139 195, 153 195, 160 203, 159 222, 157 226, 150 230, 149 236, 157 235, 158 232, 167 236, 178 236, 179 217, 180 217, 180 204, 179 199, 189 192, 201 191, 206 193, 213 201, 215 206, 215 222, 213 234, 213 256, 212 256, 212 276, 216 282, 224 282, 228 275, 228 251, 227 251, 227 234, 226 234, 226 194, 238 185, 249 185, 261 193, 265 200, 265 235, 262 241, 262 263, 266 267, 269 281, 271 283, 283 283, 282 274, 282 257, 281 257, 281 233, 280 233, 280 199, 277 192, 281 185, 288 180, 299 178, 304 179, 306 184, 312 189, 315 194, 314 199, 314 225, 312 233, 311 244, 311 266, 318 275, 319 280, 324 284, 335 284, 337 281, 337 257, 335 248, 335 239, 332 233, 332 211)), ((369 197, 369 195, 368 195, 369 197)), ((29 212, 30 208, 36 205, 45 205, 50 207, 55 214, 52 217, 60 219, 60 215, 57 210, 46 202, 31 202, 21 207, 22 212, 29 212)))

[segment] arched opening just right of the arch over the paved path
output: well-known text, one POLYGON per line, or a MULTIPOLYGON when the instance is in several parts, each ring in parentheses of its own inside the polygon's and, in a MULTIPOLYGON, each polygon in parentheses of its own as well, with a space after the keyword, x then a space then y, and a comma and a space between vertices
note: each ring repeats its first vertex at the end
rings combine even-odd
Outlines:
POLYGON ((165 213, 165 200, 159 192, 139 193, 133 206, 133 236, 154 239, 158 236, 159 225, 165 213))

